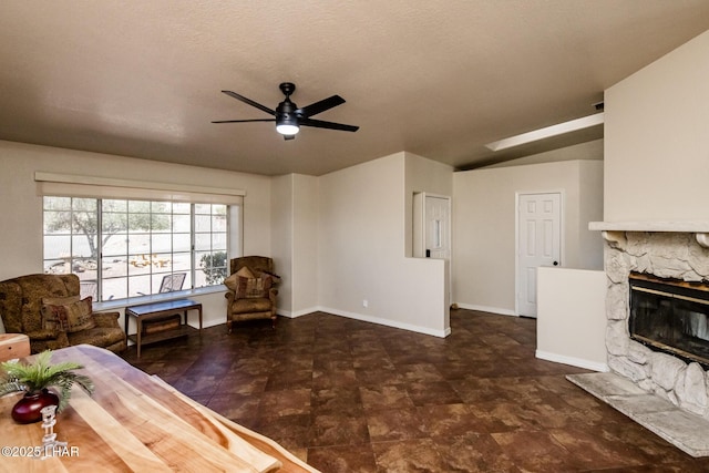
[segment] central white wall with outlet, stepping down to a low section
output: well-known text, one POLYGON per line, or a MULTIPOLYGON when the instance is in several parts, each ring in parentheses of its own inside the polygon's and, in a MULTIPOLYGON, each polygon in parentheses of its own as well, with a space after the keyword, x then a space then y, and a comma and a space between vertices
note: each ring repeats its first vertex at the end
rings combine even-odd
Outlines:
POLYGON ((445 264, 404 257, 404 167, 397 153, 319 178, 319 301, 331 313, 442 337, 445 264))

